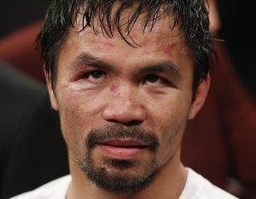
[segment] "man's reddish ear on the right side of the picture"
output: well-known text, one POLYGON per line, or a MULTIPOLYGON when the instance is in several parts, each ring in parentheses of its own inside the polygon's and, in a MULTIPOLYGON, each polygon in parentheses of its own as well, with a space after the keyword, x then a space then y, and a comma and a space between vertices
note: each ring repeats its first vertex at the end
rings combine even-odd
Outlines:
POLYGON ((190 107, 189 119, 193 119, 195 115, 201 110, 202 105, 207 99, 208 90, 211 84, 211 77, 208 74, 207 78, 202 80, 195 90, 195 99, 190 107))

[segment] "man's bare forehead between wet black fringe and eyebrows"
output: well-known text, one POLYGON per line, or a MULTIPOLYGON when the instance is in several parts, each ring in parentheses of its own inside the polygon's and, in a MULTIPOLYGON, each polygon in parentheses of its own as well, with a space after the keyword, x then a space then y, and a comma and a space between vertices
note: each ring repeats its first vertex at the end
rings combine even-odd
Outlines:
POLYGON ((108 37, 108 34, 102 30, 102 26, 106 24, 100 24, 100 21, 94 21, 95 30, 92 27, 87 26, 83 31, 83 16, 79 14, 76 20, 75 26, 71 27, 68 33, 68 37, 64 46, 72 48, 79 46, 84 50, 95 50, 98 54, 106 53, 110 48, 122 49, 121 51, 138 52, 143 51, 144 54, 160 52, 164 54, 172 54, 172 47, 178 45, 180 48, 186 48, 183 43, 183 35, 177 29, 172 28, 173 20, 172 14, 165 14, 158 19, 154 28, 151 28, 151 24, 145 26, 145 16, 140 15, 131 31, 127 31, 125 23, 129 18, 129 14, 123 14, 121 18, 121 34, 117 28, 112 25, 113 36, 108 37), (125 42, 128 42, 126 43, 125 42), (132 45, 132 46, 131 46, 132 45))

